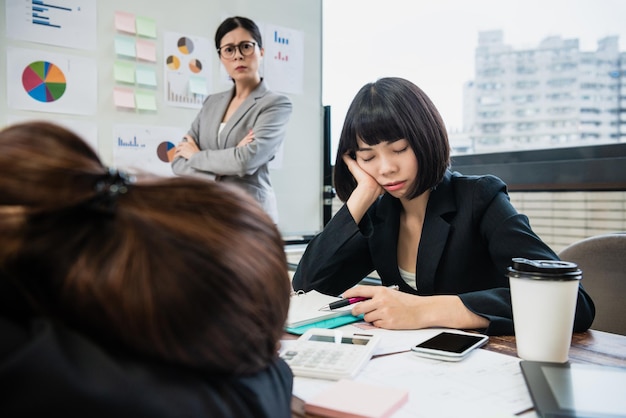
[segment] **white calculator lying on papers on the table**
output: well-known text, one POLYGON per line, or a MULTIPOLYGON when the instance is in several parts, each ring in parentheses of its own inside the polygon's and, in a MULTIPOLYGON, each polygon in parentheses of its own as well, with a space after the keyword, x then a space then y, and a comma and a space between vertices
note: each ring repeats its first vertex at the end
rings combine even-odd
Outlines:
POLYGON ((379 335, 312 328, 280 353, 294 376, 328 380, 356 376, 372 358, 379 335))

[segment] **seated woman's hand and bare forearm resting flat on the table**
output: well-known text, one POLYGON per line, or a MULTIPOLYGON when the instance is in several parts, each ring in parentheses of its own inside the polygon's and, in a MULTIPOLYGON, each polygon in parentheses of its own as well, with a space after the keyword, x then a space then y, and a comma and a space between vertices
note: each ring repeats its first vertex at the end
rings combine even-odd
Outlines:
POLYGON ((344 298, 365 297, 352 308, 352 315, 363 314, 366 322, 386 329, 487 328, 489 320, 465 307, 456 295, 418 296, 384 286, 355 286, 344 298))

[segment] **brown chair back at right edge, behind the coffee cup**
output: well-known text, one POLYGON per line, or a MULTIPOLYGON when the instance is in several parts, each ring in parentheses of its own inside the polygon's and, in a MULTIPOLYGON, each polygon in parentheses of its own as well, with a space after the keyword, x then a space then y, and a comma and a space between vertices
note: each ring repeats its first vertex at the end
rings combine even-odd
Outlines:
POLYGON ((582 285, 596 305, 591 328, 626 335, 626 232, 582 239, 559 257, 583 272, 582 285))

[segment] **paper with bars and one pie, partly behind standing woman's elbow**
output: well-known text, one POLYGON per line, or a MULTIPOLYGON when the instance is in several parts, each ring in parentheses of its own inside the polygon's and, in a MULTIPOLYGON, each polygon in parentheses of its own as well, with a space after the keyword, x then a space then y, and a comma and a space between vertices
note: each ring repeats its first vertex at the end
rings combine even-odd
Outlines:
POLYGON ((113 161, 120 169, 172 177, 176 144, 186 131, 174 127, 116 125, 113 161))

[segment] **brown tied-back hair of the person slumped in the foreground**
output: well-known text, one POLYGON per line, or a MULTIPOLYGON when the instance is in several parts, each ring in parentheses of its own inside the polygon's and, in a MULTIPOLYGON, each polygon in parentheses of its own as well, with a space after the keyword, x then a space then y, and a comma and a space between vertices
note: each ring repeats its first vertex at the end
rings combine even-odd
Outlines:
POLYGON ((46 122, 0 131, 0 149, 0 280, 28 301, 22 312, 210 372, 275 358, 291 284, 282 237, 251 197, 133 180, 46 122))

